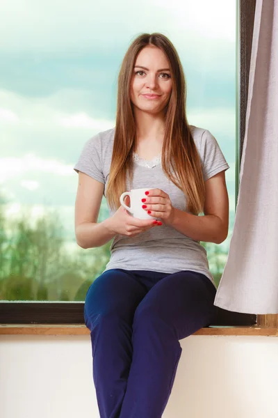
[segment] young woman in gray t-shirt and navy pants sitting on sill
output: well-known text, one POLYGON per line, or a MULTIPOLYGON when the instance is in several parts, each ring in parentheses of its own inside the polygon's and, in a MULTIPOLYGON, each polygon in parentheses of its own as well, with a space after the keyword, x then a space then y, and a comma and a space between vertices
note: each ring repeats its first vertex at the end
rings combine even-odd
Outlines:
POLYGON ((188 125, 176 49, 160 33, 129 47, 113 129, 92 137, 74 169, 76 241, 114 238, 106 270, 88 289, 85 324, 101 418, 161 418, 181 356, 179 340, 215 318, 215 284, 199 241, 228 233, 229 168, 207 130, 188 125), (120 195, 147 187, 140 220, 120 195), (110 217, 97 223, 102 195, 110 217), (200 215, 200 216, 199 216, 200 215))

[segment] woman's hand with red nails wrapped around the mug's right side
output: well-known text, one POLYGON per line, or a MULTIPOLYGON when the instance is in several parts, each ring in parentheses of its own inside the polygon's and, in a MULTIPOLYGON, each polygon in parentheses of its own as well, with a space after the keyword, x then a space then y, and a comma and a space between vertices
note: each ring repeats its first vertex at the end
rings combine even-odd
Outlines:
POLYGON ((161 189, 152 189, 145 194, 145 199, 142 199, 142 208, 149 215, 161 218, 165 224, 171 224, 174 218, 174 208, 168 194, 161 189))

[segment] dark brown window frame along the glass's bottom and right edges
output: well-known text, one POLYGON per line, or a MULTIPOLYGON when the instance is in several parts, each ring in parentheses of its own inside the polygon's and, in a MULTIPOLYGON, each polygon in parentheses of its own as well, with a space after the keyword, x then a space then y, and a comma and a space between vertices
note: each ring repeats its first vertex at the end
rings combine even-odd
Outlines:
MULTIPOLYGON (((239 162, 243 149, 245 132, 245 114, 247 109, 248 79, 250 70, 250 56, 252 47, 252 33, 254 26, 255 0, 238 0, 238 42, 237 68, 240 89, 237 93, 238 105, 238 141, 236 145, 237 169, 236 185, 238 186, 239 162)), ((236 196, 238 189, 236 190, 236 196)), ((84 325, 84 302, 2 302, 0 303, 0 323, 2 324, 49 324, 49 325, 84 325)), ((268 321, 269 316, 258 316, 261 325, 270 326, 277 324, 278 315, 268 321), (276 322, 275 322, 276 321, 276 322)), ((257 316, 252 314, 240 314, 237 312, 219 309, 218 319, 213 325, 238 326, 255 325, 257 316)))

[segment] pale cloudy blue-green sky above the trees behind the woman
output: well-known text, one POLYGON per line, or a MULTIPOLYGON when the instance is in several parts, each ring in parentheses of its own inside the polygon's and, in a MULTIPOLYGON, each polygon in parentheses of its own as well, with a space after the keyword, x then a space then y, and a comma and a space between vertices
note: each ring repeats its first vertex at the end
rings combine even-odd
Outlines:
POLYGON ((234 209, 235 0, 9 0, 0 15, 0 192, 10 215, 56 206, 73 231, 72 167, 85 141, 114 125, 131 40, 154 31, 181 58, 189 123, 214 134, 231 166, 234 209))

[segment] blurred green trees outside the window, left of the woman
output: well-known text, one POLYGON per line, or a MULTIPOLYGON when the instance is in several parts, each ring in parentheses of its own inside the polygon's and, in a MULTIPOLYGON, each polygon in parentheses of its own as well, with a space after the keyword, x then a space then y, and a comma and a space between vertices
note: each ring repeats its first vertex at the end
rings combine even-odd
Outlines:
POLYGON ((3 210, 0 215, 0 257, 6 260, 5 268, 1 263, 1 299, 84 300, 88 287, 105 268, 110 243, 69 250, 54 210, 35 221, 30 212, 9 222, 3 210))

